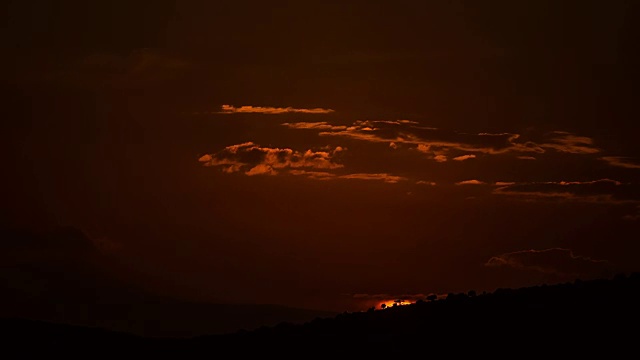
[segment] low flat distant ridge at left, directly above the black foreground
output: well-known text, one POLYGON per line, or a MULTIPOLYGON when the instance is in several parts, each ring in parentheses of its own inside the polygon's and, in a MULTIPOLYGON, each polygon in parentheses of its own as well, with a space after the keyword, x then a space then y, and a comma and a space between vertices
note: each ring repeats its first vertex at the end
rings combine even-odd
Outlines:
POLYGON ((282 321, 304 323, 336 313, 268 304, 208 304, 170 300, 127 303, 33 303, 0 316, 102 328, 145 337, 193 337, 254 330, 282 321), (30 309, 27 309, 30 308, 30 309))

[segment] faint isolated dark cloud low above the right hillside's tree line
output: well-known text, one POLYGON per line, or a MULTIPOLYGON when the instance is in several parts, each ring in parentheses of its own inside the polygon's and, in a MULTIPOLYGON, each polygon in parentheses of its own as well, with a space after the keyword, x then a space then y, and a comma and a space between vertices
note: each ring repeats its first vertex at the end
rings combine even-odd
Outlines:
POLYGON ((485 266, 510 267, 533 270, 562 277, 592 277, 603 274, 611 267, 606 260, 594 260, 574 255, 570 249, 551 248, 544 250, 522 250, 490 258, 485 266))

